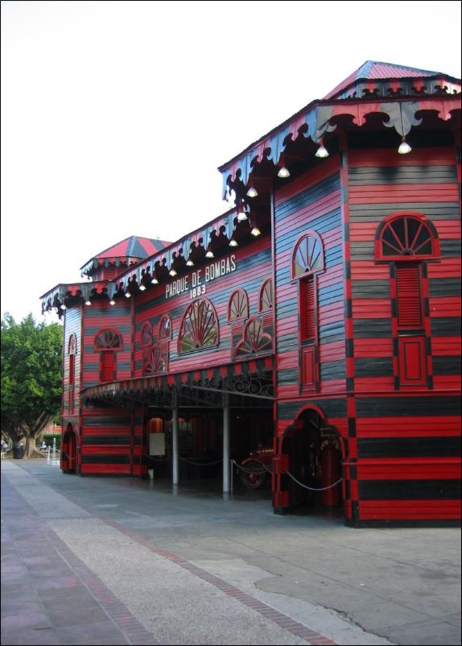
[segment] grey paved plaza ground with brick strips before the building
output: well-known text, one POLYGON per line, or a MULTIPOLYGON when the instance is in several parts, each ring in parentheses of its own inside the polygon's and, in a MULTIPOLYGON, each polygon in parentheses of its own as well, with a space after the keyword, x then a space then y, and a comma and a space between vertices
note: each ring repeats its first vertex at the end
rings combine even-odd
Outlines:
POLYGON ((1 645, 461 644, 461 531, 1 461, 1 645))

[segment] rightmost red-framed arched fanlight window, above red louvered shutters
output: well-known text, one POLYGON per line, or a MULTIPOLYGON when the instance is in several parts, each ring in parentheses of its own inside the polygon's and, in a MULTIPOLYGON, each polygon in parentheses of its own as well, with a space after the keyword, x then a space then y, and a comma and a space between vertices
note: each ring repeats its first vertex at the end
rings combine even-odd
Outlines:
POLYGON ((409 262, 436 259, 440 243, 434 225, 421 213, 403 212, 388 216, 377 229, 377 260, 409 262))

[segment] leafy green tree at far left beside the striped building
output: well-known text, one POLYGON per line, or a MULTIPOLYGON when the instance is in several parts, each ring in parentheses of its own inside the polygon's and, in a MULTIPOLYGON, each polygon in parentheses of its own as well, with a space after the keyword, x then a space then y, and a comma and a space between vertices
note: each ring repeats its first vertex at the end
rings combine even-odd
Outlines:
POLYGON ((60 413, 63 328, 1 319, 1 430, 31 455, 44 428, 60 413))

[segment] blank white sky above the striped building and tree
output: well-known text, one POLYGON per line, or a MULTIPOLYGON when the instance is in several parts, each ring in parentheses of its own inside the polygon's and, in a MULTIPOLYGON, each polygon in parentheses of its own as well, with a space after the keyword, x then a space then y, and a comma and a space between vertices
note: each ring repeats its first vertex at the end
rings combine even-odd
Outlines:
POLYGON ((460 79, 460 0, 1 1, 2 316, 219 216, 217 166, 366 60, 460 79))

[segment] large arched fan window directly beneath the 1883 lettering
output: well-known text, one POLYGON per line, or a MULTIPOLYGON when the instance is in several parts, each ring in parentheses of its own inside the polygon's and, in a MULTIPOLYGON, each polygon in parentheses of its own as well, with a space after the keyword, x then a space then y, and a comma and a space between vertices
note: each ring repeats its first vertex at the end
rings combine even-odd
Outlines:
POLYGON ((218 344, 218 320, 209 300, 195 300, 186 309, 178 337, 179 353, 218 344))

